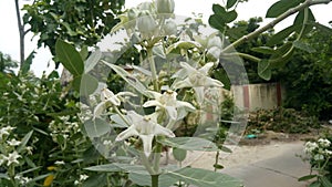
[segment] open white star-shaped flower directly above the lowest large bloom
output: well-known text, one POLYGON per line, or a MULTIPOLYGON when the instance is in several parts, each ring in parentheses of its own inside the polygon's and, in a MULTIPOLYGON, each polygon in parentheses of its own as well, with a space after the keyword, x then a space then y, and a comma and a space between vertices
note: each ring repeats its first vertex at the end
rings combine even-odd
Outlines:
POLYGON ((147 101, 143 104, 143 107, 156 106, 156 111, 166 110, 168 116, 172 120, 177 120, 177 108, 185 108, 186 111, 195 111, 195 107, 188 102, 181 102, 176 100, 177 93, 172 90, 167 90, 164 94, 158 92, 148 91, 154 95, 155 100, 147 101))

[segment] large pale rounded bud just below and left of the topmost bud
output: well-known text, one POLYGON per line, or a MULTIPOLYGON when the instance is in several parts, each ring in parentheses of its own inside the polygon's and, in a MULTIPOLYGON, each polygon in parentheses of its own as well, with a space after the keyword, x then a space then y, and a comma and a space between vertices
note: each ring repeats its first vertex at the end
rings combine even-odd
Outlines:
POLYGON ((149 13, 142 13, 137 18, 137 28, 143 38, 151 38, 157 29, 157 23, 149 13))

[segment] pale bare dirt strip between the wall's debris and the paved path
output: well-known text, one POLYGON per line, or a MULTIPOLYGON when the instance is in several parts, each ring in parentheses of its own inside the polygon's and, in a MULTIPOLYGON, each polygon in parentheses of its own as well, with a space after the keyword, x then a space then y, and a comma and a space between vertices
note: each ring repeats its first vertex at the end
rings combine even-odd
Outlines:
MULTIPOLYGON (((294 144, 304 145, 305 141, 312 139, 315 136, 315 133, 288 135, 283 133, 267 132, 259 135, 257 138, 242 138, 239 145, 228 146, 232 153, 220 153, 218 164, 225 168, 231 168, 272 158, 284 153, 294 144)), ((215 162, 215 152, 190 152, 188 153, 184 165, 212 170, 215 162)))

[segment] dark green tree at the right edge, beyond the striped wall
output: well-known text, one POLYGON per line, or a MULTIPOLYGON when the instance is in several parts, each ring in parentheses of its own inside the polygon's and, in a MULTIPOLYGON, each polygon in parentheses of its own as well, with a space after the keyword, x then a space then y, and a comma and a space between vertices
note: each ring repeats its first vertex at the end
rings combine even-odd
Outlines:
POLYGON ((330 120, 332 113, 332 28, 314 29, 303 41, 311 53, 295 51, 292 60, 278 71, 287 89, 286 105, 330 120))

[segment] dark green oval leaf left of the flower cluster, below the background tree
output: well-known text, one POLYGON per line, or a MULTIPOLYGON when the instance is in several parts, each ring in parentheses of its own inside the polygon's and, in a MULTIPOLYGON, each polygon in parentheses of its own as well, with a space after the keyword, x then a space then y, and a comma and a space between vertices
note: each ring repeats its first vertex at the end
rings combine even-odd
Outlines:
POLYGON ((55 53, 62 65, 74 76, 81 75, 84 72, 83 60, 73 45, 58 39, 55 53))

